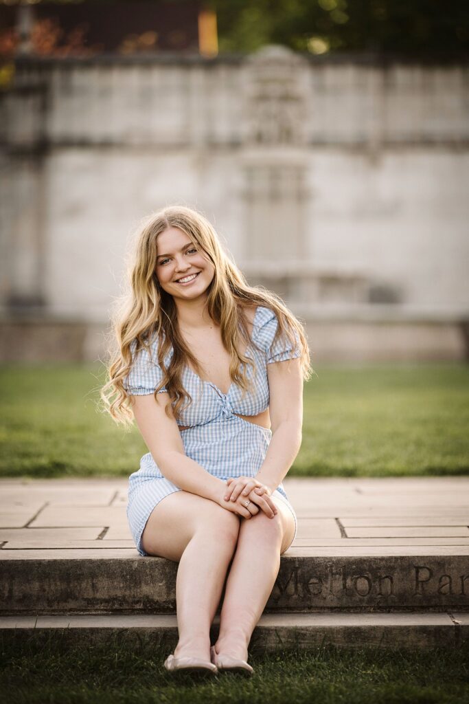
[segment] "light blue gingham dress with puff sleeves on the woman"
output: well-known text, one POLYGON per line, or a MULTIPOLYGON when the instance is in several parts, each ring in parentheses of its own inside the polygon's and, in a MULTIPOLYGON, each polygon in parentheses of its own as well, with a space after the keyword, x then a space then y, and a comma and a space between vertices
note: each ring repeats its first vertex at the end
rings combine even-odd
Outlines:
MULTIPOLYGON (((273 344, 278 320, 273 310, 258 306, 252 327, 251 343, 246 356, 255 360, 255 386, 253 393, 246 393, 237 384, 231 384, 228 393, 223 394, 211 382, 205 382, 190 367, 186 366, 182 375, 184 388, 191 394, 192 403, 181 412, 179 425, 191 426, 181 430, 184 451, 207 472, 226 481, 229 477, 254 477, 264 461, 272 432, 261 425, 238 417, 257 415, 269 407, 269 382, 267 364, 281 362, 300 356, 298 338, 292 347, 283 336, 273 344)), ((155 336, 156 337, 156 336, 155 336)), ((131 351, 133 362, 131 370, 124 381, 124 388, 131 396, 153 394, 161 382, 162 370, 158 360, 156 346, 158 339, 150 343, 151 359, 146 350, 135 355, 136 342, 131 351)), ((169 364, 172 351, 169 351, 165 364, 169 364)), ((248 378, 252 379, 252 370, 248 366, 248 378)), ((166 391, 165 387, 160 393, 166 391)), ((151 453, 143 455, 140 468, 129 477, 129 501, 127 519, 134 537, 136 548, 141 555, 147 555, 141 546, 141 534, 146 522, 156 505, 165 496, 181 491, 179 486, 163 476, 151 453)), ((297 534, 297 517, 288 501, 283 484, 279 484, 271 496, 284 501, 295 518, 295 536, 297 534)), ((295 536, 293 539, 295 539, 295 536)))

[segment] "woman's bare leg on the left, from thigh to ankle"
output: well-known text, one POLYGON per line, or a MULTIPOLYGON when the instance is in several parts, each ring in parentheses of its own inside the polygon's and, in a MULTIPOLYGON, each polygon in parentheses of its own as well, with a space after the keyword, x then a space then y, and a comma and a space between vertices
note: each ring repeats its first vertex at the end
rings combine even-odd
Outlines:
POLYGON ((209 499, 176 491, 159 503, 142 536, 143 548, 179 562, 175 658, 210 660, 210 624, 219 605, 240 528, 239 517, 209 499))

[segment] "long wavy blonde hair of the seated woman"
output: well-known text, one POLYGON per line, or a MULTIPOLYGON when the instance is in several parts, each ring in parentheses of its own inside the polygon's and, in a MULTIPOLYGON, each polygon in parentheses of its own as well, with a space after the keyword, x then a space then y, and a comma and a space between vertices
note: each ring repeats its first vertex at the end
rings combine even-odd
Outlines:
POLYGON ((108 376, 101 389, 101 399, 104 410, 113 420, 123 425, 131 424, 134 414, 131 413, 131 396, 124 389, 124 381, 131 370, 134 354, 141 349, 150 353, 150 344, 155 337, 158 337, 158 360, 155 361, 163 372, 155 397, 165 386, 169 396, 167 415, 170 415, 169 406, 172 406, 172 413, 179 420, 183 404, 192 402, 181 382, 184 368, 189 364, 202 377, 198 360, 179 332, 174 298, 160 287, 155 271, 158 235, 169 227, 177 227, 187 234, 194 246, 214 265, 214 277, 207 289, 207 310, 210 318, 219 325, 223 344, 231 354, 231 381, 243 392, 253 389, 246 367, 242 368, 241 363, 249 364, 252 369, 255 365, 245 353, 238 351, 236 344, 238 331, 246 344, 246 351, 248 344, 255 344, 250 339, 245 310, 257 306, 270 308, 276 313, 278 328, 274 341, 285 334, 296 345, 297 333, 302 377, 309 379, 313 370, 302 323, 276 294, 263 287, 248 285, 242 272, 222 249, 217 232, 204 215, 186 206, 167 206, 145 218, 136 231, 136 246, 127 275, 129 293, 117 300, 112 316, 109 362, 106 365, 108 376), (172 358, 166 368, 165 357, 171 349, 172 358))

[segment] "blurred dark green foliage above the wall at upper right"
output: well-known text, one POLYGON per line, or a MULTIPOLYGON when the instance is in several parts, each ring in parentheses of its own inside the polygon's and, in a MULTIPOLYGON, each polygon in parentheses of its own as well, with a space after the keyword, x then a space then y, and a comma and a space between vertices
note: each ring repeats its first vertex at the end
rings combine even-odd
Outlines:
POLYGON ((409 56, 463 54, 469 0, 209 0, 220 52, 264 44, 326 54, 371 51, 409 56))

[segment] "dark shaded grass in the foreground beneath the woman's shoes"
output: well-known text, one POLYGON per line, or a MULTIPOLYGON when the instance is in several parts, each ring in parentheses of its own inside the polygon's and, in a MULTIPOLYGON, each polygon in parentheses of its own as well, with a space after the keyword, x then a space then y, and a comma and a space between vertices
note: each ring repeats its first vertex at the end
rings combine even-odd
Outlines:
MULTIPOLYGON (((122 640, 122 639, 121 639, 122 640)), ((64 650, 2 646, 0 686, 8 704, 464 704, 469 650, 287 651, 250 657, 255 674, 210 679, 167 673, 167 648, 122 643, 64 650)))

